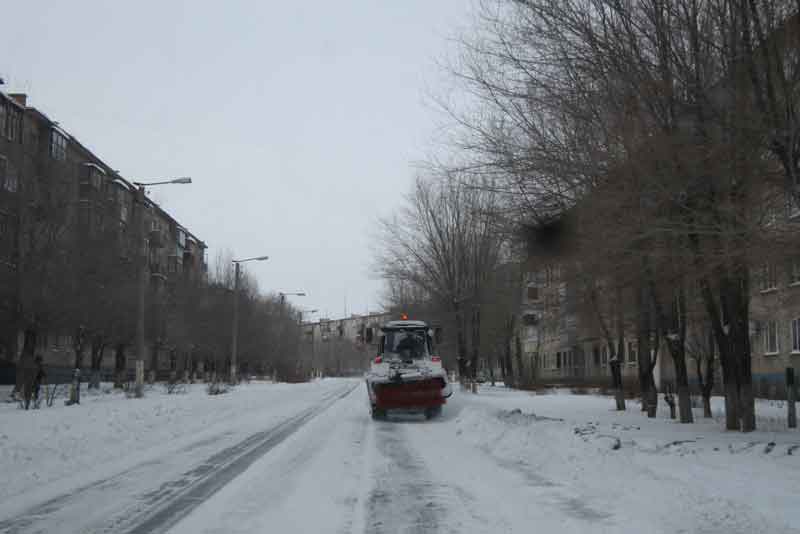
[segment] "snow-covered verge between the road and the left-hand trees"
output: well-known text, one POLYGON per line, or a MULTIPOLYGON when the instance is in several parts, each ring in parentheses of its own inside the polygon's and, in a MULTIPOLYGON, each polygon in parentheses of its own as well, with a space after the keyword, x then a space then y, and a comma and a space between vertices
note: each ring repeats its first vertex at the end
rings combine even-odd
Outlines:
POLYGON ((142 399, 104 386, 77 406, 0 403, 0 515, 199 440, 235 442, 341 386, 253 382, 210 396, 204 384, 178 394, 156 385, 142 399))

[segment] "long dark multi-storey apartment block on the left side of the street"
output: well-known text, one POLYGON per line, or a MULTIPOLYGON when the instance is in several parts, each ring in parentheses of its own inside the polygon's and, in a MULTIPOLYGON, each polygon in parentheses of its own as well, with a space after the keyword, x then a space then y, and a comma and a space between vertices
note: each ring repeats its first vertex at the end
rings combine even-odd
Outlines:
MULTIPOLYGON (((80 296, 81 281, 89 275, 135 280, 136 193, 131 181, 57 122, 28 106, 25 95, 0 92, 0 379, 9 379, 13 372, 9 368, 22 350, 21 302, 32 298, 36 269, 53 260, 43 251, 57 249, 56 268, 40 274, 57 291, 64 288, 63 295, 56 292, 52 300, 61 296, 69 302, 80 296), (41 235, 51 239, 50 247, 42 246, 41 235), (108 271, 119 271, 119 276, 108 271)), ((159 298, 170 280, 202 283, 205 244, 146 196, 143 217, 149 230, 144 237, 150 302, 159 298)), ((59 312, 68 315, 74 310, 64 307, 59 312)), ((36 353, 55 373, 66 371, 74 365, 74 329, 58 318, 50 317, 46 323, 37 336, 36 353)), ((156 325, 148 326, 147 345, 153 347, 149 356, 154 357, 145 355, 145 361, 158 367, 157 347, 169 347, 168 335, 156 325)), ((103 355, 106 370, 118 365, 113 352, 108 347, 103 355)), ((133 361, 132 347, 127 354, 133 361)))

